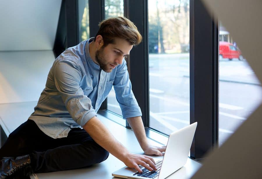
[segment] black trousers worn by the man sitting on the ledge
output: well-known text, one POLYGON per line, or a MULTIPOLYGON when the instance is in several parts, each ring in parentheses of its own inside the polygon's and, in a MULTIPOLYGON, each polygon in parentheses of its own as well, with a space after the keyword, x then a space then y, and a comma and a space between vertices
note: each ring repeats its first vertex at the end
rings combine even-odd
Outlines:
POLYGON ((0 157, 29 154, 35 173, 83 168, 107 159, 109 152, 98 145, 80 128, 73 128, 68 137, 53 139, 43 133, 36 123, 27 120, 0 149, 0 157))

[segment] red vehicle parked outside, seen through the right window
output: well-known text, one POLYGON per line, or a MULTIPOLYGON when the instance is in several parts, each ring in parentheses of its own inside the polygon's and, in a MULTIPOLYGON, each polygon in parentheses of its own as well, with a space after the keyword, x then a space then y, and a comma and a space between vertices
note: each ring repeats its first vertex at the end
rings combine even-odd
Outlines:
POLYGON ((238 60, 243 60, 243 56, 241 55, 241 51, 234 47, 233 44, 229 42, 219 42, 219 59, 228 58, 232 60, 232 58, 238 58, 238 60))

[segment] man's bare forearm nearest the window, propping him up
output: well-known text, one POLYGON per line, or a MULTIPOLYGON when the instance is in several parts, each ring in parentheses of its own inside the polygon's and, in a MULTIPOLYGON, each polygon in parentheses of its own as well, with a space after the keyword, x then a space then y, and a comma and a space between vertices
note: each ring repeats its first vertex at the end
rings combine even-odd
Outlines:
POLYGON ((141 116, 130 117, 127 120, 136 135, 139 145, 145 150, 148 147, 148 141, 141 116))

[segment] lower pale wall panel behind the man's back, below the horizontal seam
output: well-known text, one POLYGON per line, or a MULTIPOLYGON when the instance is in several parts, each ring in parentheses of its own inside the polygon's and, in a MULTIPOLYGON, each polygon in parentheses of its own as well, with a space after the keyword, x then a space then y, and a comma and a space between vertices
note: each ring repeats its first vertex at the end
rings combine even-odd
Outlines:
POLYGON ((0 52, 0 104, 38 101, 54 60, 53 51, 0 52))

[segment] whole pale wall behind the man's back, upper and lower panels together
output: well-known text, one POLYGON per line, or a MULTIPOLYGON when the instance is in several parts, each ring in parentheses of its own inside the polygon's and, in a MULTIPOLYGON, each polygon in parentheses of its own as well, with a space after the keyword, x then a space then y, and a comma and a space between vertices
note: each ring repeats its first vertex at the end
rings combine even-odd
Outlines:
POLYGON ((0 104, 38 101, 55 60, 61 2, 0 1, 0 104))

